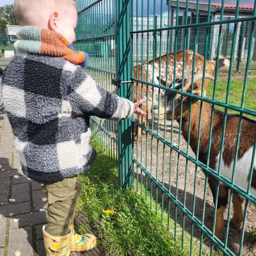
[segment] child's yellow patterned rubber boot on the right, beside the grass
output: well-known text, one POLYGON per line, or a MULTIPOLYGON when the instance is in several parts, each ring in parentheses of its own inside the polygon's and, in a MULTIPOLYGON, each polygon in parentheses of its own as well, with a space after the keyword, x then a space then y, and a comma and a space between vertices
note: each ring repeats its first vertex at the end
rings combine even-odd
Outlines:
POLYGON ((74 223, 70 223, 72 230, 71 247, 70 250, 74 252, 83 252, 92 249, 96 245, 96 237, 92 234, 85 234, 83 236, 77 235, 74 230, 74 223))

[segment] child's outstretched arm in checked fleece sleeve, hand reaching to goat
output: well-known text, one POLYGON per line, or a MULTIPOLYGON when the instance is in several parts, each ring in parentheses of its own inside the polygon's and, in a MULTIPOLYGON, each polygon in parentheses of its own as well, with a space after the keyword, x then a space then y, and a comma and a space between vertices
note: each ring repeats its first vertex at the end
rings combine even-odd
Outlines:
POLYGON ((70 77, 71 93, 68 102, 76 115, 98 116, 111 120, 128 118, 132 113, 145 116, 139 108, 145 100, 136 103, 106 91, 97 86, 91 76, 77 67, 70 77))

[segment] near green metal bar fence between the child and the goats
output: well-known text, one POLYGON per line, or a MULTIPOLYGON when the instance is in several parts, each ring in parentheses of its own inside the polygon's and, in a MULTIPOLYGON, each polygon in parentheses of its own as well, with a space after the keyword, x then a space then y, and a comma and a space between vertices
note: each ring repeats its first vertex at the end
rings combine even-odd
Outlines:
MULTIPOLYGON (((224 6, 223 3, 222 6, 224 6)), ((199 2, 197 2, 198 5, 199 2)), ((238 5, 239 0, 237 1, 238 5)), ((211 6, 211 0, 209 6, 211 6)), ((166 7, 166 1, 163 0, 77 0, 77 8, 79 21, 75 46, 78 50, 88 52, 90 56, 87 68, 88 74, 93 76, 99 86, 103 86, 111 92, 116 92, 127 99, 134 99, 134 90, 137 94, 139 90, 143 90, 140 84, 147 88, 145 96, 147 96, 148 127, 138 122, 136 116, 121 122, 110 122, 109 120, 92 117, 93 136, 100 141, 102 147, 106 148, 109 157, 118 163, 120 186, 127 188, 135 180, 138 191, 145 196, 145 200, 150 201, 152 208, 152 202, 156 200, 157 204, 154 211, 156 213, 161 212, 163 222, 170 232, 173 232, 177 243, 182 243, 182 246, 185 246, 189 240, 190 255, 216 255, 218 250, 225 253, 225 255, 242 255, 242 253, 255 255, 256 251, 253 249, 249 236, 250 228, 255 225, 255 221, 253 222, 255 209, 253 209, 254 206, 252 208, 248 206, 248 202, 256 203, 255 195, 250 192, 252 180, 256 179, 255 173, 253 173, 253 161, 250 161, 248 189, 237 186, 234 178, 241 150, 239 143, 244 143, 244 141, 240 141, 243 115, 254 120, 256 118, 256 106, 246 105, 245 100, 250 100, 251 97, 246 94, 246 89, 248 89, 248 82, 250 81, 248 72, 252 67, 255 55, 256 8, 254 8, 250 17, 239 17, 239 8, 237 8, 236 15, 226 19, 222 7, 220 19, 216 20, 211 19, 210 8, 204 19, 199 19, 199 8, 196 8, 195 17, 191 18, 188 12, 189 2, 187 2, 186 15, 182 19, 171 17, 171 8, 170 6, 166 7), (156 16, 159 22, 156 20, 156 16), (153 19, 153 27, 150 19, 153 19), (244 37, 246 37, 245 41, 244 37), (162 74, 164 65, 158 65, 159 73, 155 73, 157 58, 159 57, 158 60, 161 63, 163 58, 161 56, 164 56, 164 54, 168 56, 170 52, 174 52, 173 77, 178 77, 176 74, 178 65, 182 65, 184 76, 185 60, 183 59, 182 63, 177 63, 176 60, 177 52, 179 50, 186 51, 187 49, 199 52, 209 60, 217 56, 216 71, 213 74, 215 80, 209 86, 212 88, 212 95, 205 97, 204 93, 195 95, 187 92, 184 89, 185 81, 182 81, 181 89, 178 90, 177 88, 164 86, 168 84, 163 85, 155 79, 156 76, 161 77, 163 75, 162 77, 165 76, 165 80, 168 80, 168 72, 162 74), (218 99, 220 83, 224 83, 223 81, 217 81, 220 72, 218 61, 221 54, 230 60, 230 67, 227 69, 227 76, 224 79, 224 90, 222 88, 223 91, 220 92, 220 94, 225 95, 224 100, 218 99), (243 59, 246 61, 242 61, 243 59), (152 67, 149 67, 148 62, 151 60, 152 67), (142 75, 134 76, 134 71, 139 70, 140 67, 144 67, 144 69, 142 68, 142 75), (239 70, 240 68, 244 69, 241 93, 239 94, 239 102, 232 104, 230 98, 235 91, 233 90, 233 83, 236 82, 236 77, 232 77, 232 70, 239 70), (143 76, 143 72, 145 76, 143 76), (150 75, 150 72, 153 72, 153 74, 150 75), (117 83, 118 79, 122 83, 117 83), (150 94, 150 90, 154 91, 156 97, 150 94), (163 97, 164 107, 165 109, 168 108, 168 97, 164 94, 165 92, 171 93, 169 95, 172 95, 172 93, 182 95, 182 99, 189 97, 188 120, 178 118, 177 122, 172 122, 166 120, 166 113, 163 120, 160 120, 159 114, 157 117, 152 115, 154 109, 149 108, 149 102, 153 102, 152 105, 155 106, 158 104, 159 107, 159 99, 161 99, 162 94, 165 95, 165 98, 163 97), (246 98, 247 96, 249 98, 246 98), (199 103, 196 104, 199 104, 200 112, 197 120, 196 148, 193 148, 193 151, 182 136, 182 124, 188 121, 188 134, 186 136, 188 136, 189 141, 192 137, 193 124, 191 119, 193 119, 193 104, 196 100, 199 100, 197 101, 199 103), (202 102, 223 109, 223 124, 220 127, 221 133, 218 135, 221 138, 220 152, 224 150, 225 132, 227 132, 226 127, 230 120, 228 113, 236 111, 238 114, 238 123, 237 126, 235 125, 234 129, 236 131, 234 132, 234 138, 232 138, 236 145, 232 179, 227 179, 221 173, 222 153, 220 154, 218 168, 212 168, 211 166, 211 147, 206 148, 205 159, 202 160, 199 146, 200 137, 205 132, 201 129, 202 124, 204 124, 202 102), (245 108, 245 106, 250 106, 250 108, 245 108), (138 141, 133 140, 136 127, 141 127, 145 131, 145 135, 141 136, 138 141), (207 185, 207 182, 212 178, 218 184, 214 200, 207 185), (213 232, 216 225, 216 216, 219 214, 213 201, 215 205, 218 205, 218 195, 222 193, 220 184, 225 184, 230 189, 229 203, 225 215, 227 223, 223 238, 217 237, 213 232), (245 203, 243 226, 238 231, 230 227, 230 216, 233 211, 231 202, 235 193, 242 195, 245 203), (248 209, 250 209, 253 218, 248 216, 248 209), (246 225, 248 223, 249 225, 246 225)), ((179 13, 179 1, 177 2, 177 9, 177 13, 179 13)), ((206 70, 207 65, 206 58, 204 58, 204 70, 206 70)), ((195 61, 194 54, 193 71, 196 71, 195 61)), ((194 79, 193 72, 192 81, 194 79)), ((202 92, 204 92, 204 85, 205 72, 202 92)), ((254 93, 254 97, 251 98, 254 99, 256 97, 255 92, 250 93, 254 93)), ((183 105, 184 103, 181 101, 180 113, 185 108, 183 108, 183 105)), ((172 104, 172 113, 173 108, 174 104, 172 104)), ((216 125, 214 123, 214 113, 212 107, 211 122, 209 123, 209 131, 207 131, 209 132, 209 145, 212 145, 215 140, 214 129, 212 128, 216 125)), ((172 114, 173 118, 174 114, 172 114)), ((249 133, 250 131, 248 131, 249 133)), ((251 150, 252 159, 254 160, 256 138, 251 150)))

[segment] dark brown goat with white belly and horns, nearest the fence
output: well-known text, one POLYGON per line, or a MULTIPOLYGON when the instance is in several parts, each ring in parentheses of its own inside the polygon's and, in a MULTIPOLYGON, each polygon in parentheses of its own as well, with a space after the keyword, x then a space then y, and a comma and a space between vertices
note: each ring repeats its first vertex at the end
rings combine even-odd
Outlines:
MULTIPOLYGON (((201 95, 202 92, 202 73, 195 75, 195 84, 193 86, 193 94, 201 95), (200 83, 198 83, 200 81, 200 83)), ((210 74, 205 74, 205 78, 214 79, 210 74)), ((165 81, 161 80, 161 83, 165 81)), ((172 84, 173 86, 173 84, 172 84)), ((180 90, 182 86, 182 81, 176 79, 175 89, 180 90)), ((206 94, 208 84, 205 84, 204 95, 206 94)), ((191 79, 184 80, 184 92, 191 92, 191 79)), ((199 116, 200 116, 200 104, 198 100, 191 97, 181 97, 179 93, 166 92, 160 100, 160 108, 158 105, 154 106, 154 116, 157 118, 159 113, 159 118, 164 119, 166 114, 167 120, 172 120, 173 118, 180 121, 182 118, 182 134, 186 141, 188 141, 189 134, 189 102, 191 100, 191 126, 190 126, 190 140, 189 145, 193 152, 196 154, 196 148, 198 143, 198 127, 199 127, 199 116), (167 106, 165 108, 165 97, 167 97, 167 106), (173 106, 174 102, 174 106, 173 106), (180 102, 182 103, 182 116, 180 116, 180 102)), ((209 147, 209 132, 211 124, 211 104, 207 102, 202 102, 202 122, 200 129, 200 145, 198 152, 198 159, 200 162, 207 164, 207 150, 209 147)), ((218 172, 220 163, 220 149, 221 149, 221 135, 224 123, 224 113, 214 109, 213 113, 213 125, 212 125, 212 136, 211 136, 211 155, 209 158, 209 167, 218 172)), ((227 177, 227 179, 232 180, 232 173, 234 168, 234 157, 236 152, 236 141, 237 141, 237 131, 239 126, 239 116, 238 115, 227 115, 227 123, 225 129, 225 140, 223 145, 222 163, 220 166, 221 175, 227 177)), ((243 189, 248 188, 248 179, 250 175, 250 166, 253 161, 253 177, 252 177, 252 188, 250 193, 256 195, 256 157, 252 159, 253 154, 253 143, 256 136, 256 122, 250 120, 249 118, 243 117, 241 125, 241 134, 239 141, 239 150, 237 156, 236 164, 236 175, 234 177, 234 183, 243 189)), ((216 199, 216 189, 217 180, 209 177, 209 186, 212 191, 212 196, 214 198, 214 204, 216 199)), ((217 215, 216 215, 216 227, 215 234, 217 237, 221 237, 221 233, 224 229, 224 212, 228 204, 228 186, 220 183, 220 190, 218 194, 218 205, 217 215)), ((230 225, 235 228, 241 228, 243 225, 243 209, 242 209, 243 198, 234 191, 232 204, 234 205, 234 214, 230 220, 230 225)))

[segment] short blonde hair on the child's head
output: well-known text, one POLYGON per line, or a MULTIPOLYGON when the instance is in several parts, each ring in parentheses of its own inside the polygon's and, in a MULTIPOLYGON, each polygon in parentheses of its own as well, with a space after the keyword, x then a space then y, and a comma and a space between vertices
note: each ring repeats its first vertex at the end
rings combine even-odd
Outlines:
POLYGON ((38 10, 42 10, 45 6, 49 4, 54 5, 73 5, 76 7, 76 2, 74 0, 14 0, 13 3, 13 13, 17 20, 22 24, 32 24, 35 22, 31 13, 35 7, 38 10))

